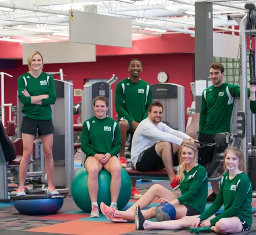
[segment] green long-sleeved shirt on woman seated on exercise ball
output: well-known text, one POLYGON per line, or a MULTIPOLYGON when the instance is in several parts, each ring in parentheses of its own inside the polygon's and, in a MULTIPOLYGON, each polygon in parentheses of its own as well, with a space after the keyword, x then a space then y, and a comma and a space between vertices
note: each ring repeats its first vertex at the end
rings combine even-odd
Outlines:
POLYGON ((116 156, 121 150, 121 134, 118 122, 113 118, 98 119, 92 117, 83 123, 81 133, 81 150, 86 157, 97 153, 109 153, 116 156))

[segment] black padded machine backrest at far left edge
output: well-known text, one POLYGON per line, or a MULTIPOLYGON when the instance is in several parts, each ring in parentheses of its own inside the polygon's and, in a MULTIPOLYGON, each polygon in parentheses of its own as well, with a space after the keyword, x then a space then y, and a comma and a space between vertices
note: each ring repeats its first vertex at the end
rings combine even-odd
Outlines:
POLYGON ((10 162, 16 159, 17 154, 15 147, 13 146, 12 140, 6 135, 5 129, 3 128, 3 123, 0 121, 0 143, 3 150, 4 161, 10 162))

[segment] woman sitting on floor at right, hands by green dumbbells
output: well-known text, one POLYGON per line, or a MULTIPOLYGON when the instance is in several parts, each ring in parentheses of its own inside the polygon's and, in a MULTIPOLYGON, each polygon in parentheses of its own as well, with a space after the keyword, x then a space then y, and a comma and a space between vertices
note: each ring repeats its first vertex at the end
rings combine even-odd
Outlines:
MULTIPOLYGON (((214 204, 200 216, 186 216, 179 220, 152 222, 145 220, 140 208, 136 208, 136 229, 186 229, 190 226, 201 227, 201 232, 240 233, 250 229, 253 222, 252 206, 253 189, 244 173, 244 156, 237 147, 225 150, 225 167, 228 169, 221 178, 221 186, 214 204), (215 213, 224 204, 224 211, 215 213)), ((193 229, 192 229, 193 230, 193 229)))

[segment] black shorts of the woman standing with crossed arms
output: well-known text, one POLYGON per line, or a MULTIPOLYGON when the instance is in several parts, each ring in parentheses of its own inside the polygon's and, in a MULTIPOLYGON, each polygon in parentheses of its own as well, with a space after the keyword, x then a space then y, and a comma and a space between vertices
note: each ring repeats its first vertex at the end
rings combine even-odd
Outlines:
POLYGON ((52 120, 33 120, 23 116, 20 132, 24 134, 39 136, 54 133, 52 120))

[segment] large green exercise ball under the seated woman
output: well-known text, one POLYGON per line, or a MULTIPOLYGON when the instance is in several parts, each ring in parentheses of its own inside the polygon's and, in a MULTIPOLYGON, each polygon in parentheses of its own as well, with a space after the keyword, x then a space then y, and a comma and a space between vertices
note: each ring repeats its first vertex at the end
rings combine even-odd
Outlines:
MULTIPOLYGON (((91 199, 87 187, 88 172, 81 167, 74 175, 71 191, 74 203, 84 212, 91 212, 91 199)), ((102 169, 98 175, 98 207, 101 202, 111 205, 111 174, 102 169)), ((121 169, 121 187, 118 197, 118 209, 123 209, 131 197, 131 179, 125 169, 121 169)))

